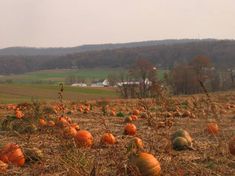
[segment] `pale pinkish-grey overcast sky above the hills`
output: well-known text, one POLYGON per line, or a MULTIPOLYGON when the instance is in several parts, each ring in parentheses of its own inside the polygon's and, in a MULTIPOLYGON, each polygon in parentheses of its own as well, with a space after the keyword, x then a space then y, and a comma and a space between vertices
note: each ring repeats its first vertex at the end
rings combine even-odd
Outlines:
POLYGON ((235 39, 235 0, 0 0, 0 48, 235 39))

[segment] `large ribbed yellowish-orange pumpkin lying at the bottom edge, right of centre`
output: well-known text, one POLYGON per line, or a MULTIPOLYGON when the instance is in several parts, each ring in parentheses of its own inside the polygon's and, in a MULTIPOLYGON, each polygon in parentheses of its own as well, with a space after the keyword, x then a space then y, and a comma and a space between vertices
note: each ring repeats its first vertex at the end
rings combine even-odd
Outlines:
POLYGON ((152 154, 145 152, 132 154, 129 156, 129 163, 136 166, 142 176, 160 175, 160 163, 152 154))

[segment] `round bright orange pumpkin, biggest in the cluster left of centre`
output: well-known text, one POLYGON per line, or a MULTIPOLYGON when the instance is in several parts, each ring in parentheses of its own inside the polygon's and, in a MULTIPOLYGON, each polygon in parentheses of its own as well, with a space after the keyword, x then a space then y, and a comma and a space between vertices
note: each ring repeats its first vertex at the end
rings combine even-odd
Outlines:
POLYGON ((74 137, 78 147, 91 147, 93 144, 93 136, 87 130, 80 130, 74 137))

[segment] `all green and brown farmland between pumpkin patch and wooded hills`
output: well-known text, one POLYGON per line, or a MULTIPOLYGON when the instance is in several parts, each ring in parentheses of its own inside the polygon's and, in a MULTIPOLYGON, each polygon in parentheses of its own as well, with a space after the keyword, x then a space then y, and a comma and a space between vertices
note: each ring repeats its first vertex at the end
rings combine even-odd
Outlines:
MULTIPOLYGON (((0 103, 18 103, 30 101, 32 98, 43 101, 57 100, 59 83, 69 76, 85 80, 105 79, 109 74, 119 75, 124 69, 57 69, 43 70, 20 75, 0 76, 0 103)), ((162 79, 164 70, 158 71, 158 78, 162 79)), ((81 88, 65 86, 64 98, 77 101, 102 97, 118 97, 112 88, 81 88)))

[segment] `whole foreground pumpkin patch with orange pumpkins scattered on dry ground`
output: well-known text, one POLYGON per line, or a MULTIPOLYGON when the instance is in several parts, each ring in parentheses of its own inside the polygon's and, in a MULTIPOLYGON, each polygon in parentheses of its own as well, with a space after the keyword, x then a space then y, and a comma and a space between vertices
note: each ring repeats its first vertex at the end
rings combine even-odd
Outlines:
POLYGON ((235 92, 0 106, 1 175, 235 175, 235 92))

